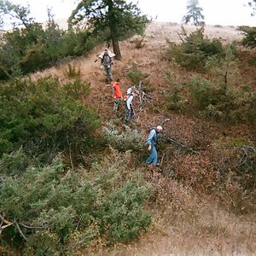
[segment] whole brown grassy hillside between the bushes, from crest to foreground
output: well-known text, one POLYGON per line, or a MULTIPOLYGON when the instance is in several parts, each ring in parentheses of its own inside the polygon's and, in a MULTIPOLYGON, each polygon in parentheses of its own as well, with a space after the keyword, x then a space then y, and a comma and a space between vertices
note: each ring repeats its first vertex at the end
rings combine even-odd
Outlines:
MULTIPOLYGON (((187 32, 195 30, 195 26, 184 27, 187 32)), ((153 227, 139 241, 129 245, 118 245, 108 250, 92 245, 89 251, 83 251, 81 255, 255 255, 255 201, 241 193, 238 181, 226 183, 225 191, 215 186, 219 178, 215 177, 216 169, 232 168, 226 160, 235 157, 235 151, 234 155, 227 156, 224 154, 228 154, 228 149, 218 154, 216 148, 230 137, 234 140, 242 138, 253 145, 255 138, 252 128, 247 124, 227 125, 214 119, 201 119, 201 116, 167 110, 165 96, 171 85, 166 83, 166 71, 171 71, 173 84, 207 77, 171 66, 163 60, 166 38, 179 43, 177 32, 180 32, 177 24, 154 22, 145 32, 142 48, 135 47, 137 39, 140 39, 138 37, 121 42, 123 59, 114 61, 113 77, 120 79, 121 89, 125 92, 131 86, 126 74, 136 64, 146 74, 143 84, 152 100, 146 103, 142 111, 135 102, 137 116, 131 127, 146 137, 150 127, 163 124, 168 136, 194 148, 197 154, 181 153, 177 145, 166 145, 163 151, 159 151, 161 173, 144 166, 146 152, 135 156, 133 164, 142 168, 148 182, 156 189, 155 201, 148 206, 154 212, 153 227), (214 193, 205 193, 206 188, 214 193), (227 196, 229 194, 230 197, 227 196), (245 198, 248 200, 243 201, 245 198)), ((205 34, 208 38, 222 38, 224 44, 241 39, 241 34, 233 26, 206 26, 205 34)), ((104 45, 94 49, 87 57, 34 73, 32 79, 52 75, 64 83, 67 81, 67 65, 79 68, 81 79, 89 81, 91 89, 89 99, 84 104, 96 108, 103 125, 112 120, 117 127, 122 127, 121 113, 118 117, 113 114, 110 84, 104 83, 104 75, 96 61, 102 49, 104 45)), ((241 58, 239 79, 230 80, 237 87, 241 86, 242 81, 242 84, 255 88, 256 71, 248 64, 250 57, 251 54, 245 51, 241 58)), ((229 175, 231 179, 232 173, 229 175)))

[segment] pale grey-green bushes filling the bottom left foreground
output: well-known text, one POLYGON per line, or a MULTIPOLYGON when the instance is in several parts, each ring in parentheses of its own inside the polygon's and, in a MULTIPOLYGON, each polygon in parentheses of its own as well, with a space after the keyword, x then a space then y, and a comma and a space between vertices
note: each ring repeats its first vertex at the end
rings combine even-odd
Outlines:
MULTIPOLYGON (((11 158, 20 165, 13 166, 13 174, 26 162, 22 152, 15 155, 17 160, 14 154, 11 158)), ((73 254, 92 240, 109 244, 136 238, 150 224, 143 210, 150 187, 139 172, 126 167, 130 160, 130 154, 111 150, 90 172, 73 172, 65 171, 59 156, 49 166, 27 166, 19 176, 4 175, 0 208, 12 224, 3 230, 3 241, 21 246, 25 239, 28 255, 61 255, 73 254)), ((5 169, 6 163, 1 162, 5 169)))

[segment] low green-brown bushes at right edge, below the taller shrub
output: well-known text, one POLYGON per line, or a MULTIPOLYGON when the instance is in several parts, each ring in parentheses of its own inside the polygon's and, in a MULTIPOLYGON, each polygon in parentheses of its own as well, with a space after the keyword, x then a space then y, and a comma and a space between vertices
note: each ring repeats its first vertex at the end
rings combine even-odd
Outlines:
POLYGON ((166 96, 169 109, 183 113, 200 112, 205 117, 229 122, 252 122, 255 93, 246 86, 226 88, 207 79, 191 79, 174 85, 166 96))

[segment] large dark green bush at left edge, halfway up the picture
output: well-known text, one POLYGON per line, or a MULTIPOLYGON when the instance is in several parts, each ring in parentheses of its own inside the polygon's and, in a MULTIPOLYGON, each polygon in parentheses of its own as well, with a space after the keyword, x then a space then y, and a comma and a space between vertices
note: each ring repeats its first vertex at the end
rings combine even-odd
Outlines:
POLYGON ((95 143, 97 114, 79 99, 90 84, 58 79, 15 79, 0 87, 0 154, 22 146, 26 154, 52 160, 60 151, 81 154, 95 143))

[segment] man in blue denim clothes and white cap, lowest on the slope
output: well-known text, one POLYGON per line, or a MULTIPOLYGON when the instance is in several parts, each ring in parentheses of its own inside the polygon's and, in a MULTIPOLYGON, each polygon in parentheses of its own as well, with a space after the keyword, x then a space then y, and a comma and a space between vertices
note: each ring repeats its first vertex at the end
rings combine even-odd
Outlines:
POLYGON ((157 162, 157 151, 155 146, 158 134, 162 131, 163 127, 158 125, 156 126, 156 128, 153 128, 148 134, 146 145, 148 146, 149 156, 146 160, 146 164, 153 164, 154 166, 159 166, 159 163, 157 162))

